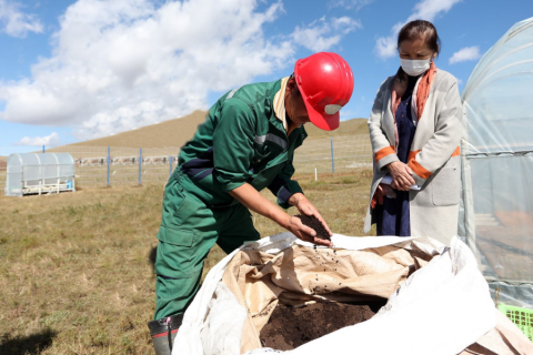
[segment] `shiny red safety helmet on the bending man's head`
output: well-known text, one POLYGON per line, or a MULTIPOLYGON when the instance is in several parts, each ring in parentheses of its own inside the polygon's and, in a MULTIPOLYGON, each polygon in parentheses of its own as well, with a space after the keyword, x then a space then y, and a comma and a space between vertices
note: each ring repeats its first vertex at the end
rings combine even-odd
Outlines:
POLYGON ((346 61, 336 53, 314 53, 296 61, 294 78, 311 122, 325 131, 336 130, 339 110, 353 91, 353 73, 346 61))

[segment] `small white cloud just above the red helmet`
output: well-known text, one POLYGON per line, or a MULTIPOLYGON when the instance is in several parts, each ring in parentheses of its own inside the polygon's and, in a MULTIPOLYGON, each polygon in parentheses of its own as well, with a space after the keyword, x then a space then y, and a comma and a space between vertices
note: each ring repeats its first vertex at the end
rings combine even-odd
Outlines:
POLYGON ((342 36, 362 28, 361 22, 349 17, 320 18, 308 26, 295 28, 292 33, 294 42, 314 52, 329 50, 341 41, 342 36))

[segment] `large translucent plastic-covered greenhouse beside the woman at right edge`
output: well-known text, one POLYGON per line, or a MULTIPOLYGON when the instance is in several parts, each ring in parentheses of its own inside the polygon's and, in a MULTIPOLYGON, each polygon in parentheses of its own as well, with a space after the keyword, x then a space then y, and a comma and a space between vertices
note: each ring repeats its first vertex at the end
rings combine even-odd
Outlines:
POLYGON ((459 234, 500 300, 533 307, 533 18, 480 60, 463 92, 459 234))

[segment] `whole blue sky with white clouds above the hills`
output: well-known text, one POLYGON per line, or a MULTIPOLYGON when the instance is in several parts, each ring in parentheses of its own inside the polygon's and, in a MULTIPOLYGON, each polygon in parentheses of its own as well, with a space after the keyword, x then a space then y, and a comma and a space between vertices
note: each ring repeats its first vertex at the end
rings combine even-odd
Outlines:
MULTIPOLYGON (((0 0, 0 155, 68 144, 208 109, 223 92, 340 53, 366 118, 395 73, 398 29, 432 21, 460 90, 531 0, 0 0)), ((342 123, 341 123, 342 124, 342 123)))

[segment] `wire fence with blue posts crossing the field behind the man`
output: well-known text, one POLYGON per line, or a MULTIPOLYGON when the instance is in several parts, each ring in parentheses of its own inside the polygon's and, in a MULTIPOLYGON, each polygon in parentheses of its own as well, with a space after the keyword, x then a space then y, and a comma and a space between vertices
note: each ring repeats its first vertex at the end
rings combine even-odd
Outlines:
MULTIPOLYGON (((84 187, 165 182, 177 165, 180 148, 60 146, 43 148, 43 151, 70 153, 76 162, 76 184, 84 187)), ((295 151, 293 164, 298 174, 330 174, 371 168, 369 136, 305 141, 295 151)), ((6 158, 0 158, 0 186, 4 185, 6 158)))

